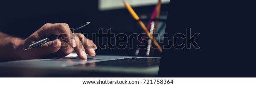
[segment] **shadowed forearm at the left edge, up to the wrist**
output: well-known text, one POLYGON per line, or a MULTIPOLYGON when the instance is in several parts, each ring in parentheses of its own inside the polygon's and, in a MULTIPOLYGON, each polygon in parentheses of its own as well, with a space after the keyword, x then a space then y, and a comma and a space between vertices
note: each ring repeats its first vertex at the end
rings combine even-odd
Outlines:
POLYGON ((0 59, 14 60, 18 59, 18 46, 22 43, 22 39, 12 37, 0 32, 0 59))

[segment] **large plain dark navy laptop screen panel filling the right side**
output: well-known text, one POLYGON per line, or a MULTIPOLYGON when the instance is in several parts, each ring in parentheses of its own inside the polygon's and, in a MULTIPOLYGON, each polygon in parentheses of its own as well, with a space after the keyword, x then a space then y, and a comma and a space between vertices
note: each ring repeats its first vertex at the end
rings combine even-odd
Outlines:
POLYGON ((171 0, 164 43, 191 28, 201 49, 164 49, 159 76, 256 77, 255 8, 248 0, 171 0))

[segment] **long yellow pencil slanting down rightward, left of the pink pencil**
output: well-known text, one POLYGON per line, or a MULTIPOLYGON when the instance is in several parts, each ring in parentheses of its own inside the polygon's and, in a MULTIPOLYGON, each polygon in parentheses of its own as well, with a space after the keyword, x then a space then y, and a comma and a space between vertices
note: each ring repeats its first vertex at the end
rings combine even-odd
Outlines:
POLYGON ((138 20, 140 26, 142 27, 142 29, 145 31, 146 34, 148 34, 149 38, 154 41, 155 46, 158 46, 158 50, 159 52, 162 52, 162 48, 161 46, 157 43, 156 40, 154 40, 153 35, 150 34, 150 32, 148 32, 148 29, 146 28, 146 26, 144 25, 144 23, 140 20, 140 17, 135 13, 135 11, 131 8, 131 6, 129 5, 129 3, 127 3, 124 0, 125 3, 125 7, 126 9, 128 9, 128 11, 131 13, 131 15, 134 17, 135 20, 138 20))

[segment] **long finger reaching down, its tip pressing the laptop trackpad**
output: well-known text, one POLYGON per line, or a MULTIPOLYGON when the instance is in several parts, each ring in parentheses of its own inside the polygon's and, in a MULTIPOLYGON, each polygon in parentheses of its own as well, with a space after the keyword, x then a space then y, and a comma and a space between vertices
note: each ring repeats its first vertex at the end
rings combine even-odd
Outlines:
POLYGON ((76 43, 76 47, 74 47, 74 50, 76 51, 76 54, 80 59, 87 59, 87 55, 85 53, 84 46, 82 45, 81 41, 79 40, 79 37, 74 34, 75 36, 73 39, 75 40, 74 43, 76 43))

